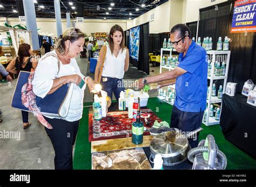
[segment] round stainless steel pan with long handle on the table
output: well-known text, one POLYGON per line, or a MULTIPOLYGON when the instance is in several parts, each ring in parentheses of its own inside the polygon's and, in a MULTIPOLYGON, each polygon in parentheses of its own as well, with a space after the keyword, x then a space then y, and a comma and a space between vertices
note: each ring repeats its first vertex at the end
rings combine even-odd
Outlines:
POLYGON ((188 135, 178 131, 168 131, 160 133, 150 142, 150 162, 153 163, 154 156, 160 154, 163 158, 164 166, 174 166, 187 160, 187 152, 191 149, 187 137, 203 130, 198 128, 188 135))

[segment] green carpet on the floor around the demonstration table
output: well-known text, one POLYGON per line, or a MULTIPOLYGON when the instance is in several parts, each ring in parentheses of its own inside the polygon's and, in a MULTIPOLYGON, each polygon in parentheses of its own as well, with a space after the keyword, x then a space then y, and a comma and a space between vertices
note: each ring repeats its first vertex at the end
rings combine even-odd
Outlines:
MULTIPOLYGON (((91 103, 84 104, 84 106, 88 105, 91 105, 91 103)), ((155 112, 160 119, 170 123, 172 112, 171 105, 161 102, 158 98, 150 98, 147 107, 155 112)), ((88 141, 88 113, 89 108, 84 107, 83 117, 80 120, 76 140, 73 163, 74 169, 91 169, 91 143, 88 141)), ((256 169, 256 161, 231 142, 227 141, 219 125, 205 126, 202 124, 201 127, 204 128, 204 130, 200 132, 199 141, 205 139, 208 134, 214 136, 219 149, 227 157, 226 169, 256 169)))

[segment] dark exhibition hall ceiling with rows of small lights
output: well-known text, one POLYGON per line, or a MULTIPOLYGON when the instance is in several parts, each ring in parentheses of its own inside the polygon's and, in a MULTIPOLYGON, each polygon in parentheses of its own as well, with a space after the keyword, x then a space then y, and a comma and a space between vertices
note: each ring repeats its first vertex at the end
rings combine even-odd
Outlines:
MULTIPOLYGON (((66 12, 70 12, 71 19, 76 17, 84 17, 85 19, 134 19, 167 1, 59 0, 62 18, 66 18, 66 12)), ((37 0, 34 1, 34 4, 37 18, 55 18, 54 0, 37 0)), ((24 16, 22 8, 22 0, 0 0, 0 17, 24 16)))

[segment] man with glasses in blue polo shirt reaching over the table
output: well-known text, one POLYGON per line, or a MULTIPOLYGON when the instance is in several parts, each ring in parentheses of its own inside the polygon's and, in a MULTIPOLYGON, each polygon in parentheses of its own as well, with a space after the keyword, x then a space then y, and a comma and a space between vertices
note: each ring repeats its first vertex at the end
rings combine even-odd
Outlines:
MULTIPOLYGON (((188 133, 201 126, 207 95, 207 54, 203 47, 191 40, 190 29, 183 24, 171 29, 171 42, 179 54, 179 65, 171 71, 155 76, 140 78, 139 88, 146 83, 160 83, 161 87, 172 84, 176 78, 171 127, 188 133)), ((196 138, 188 139, 191 147, 198 146, 196 138)))

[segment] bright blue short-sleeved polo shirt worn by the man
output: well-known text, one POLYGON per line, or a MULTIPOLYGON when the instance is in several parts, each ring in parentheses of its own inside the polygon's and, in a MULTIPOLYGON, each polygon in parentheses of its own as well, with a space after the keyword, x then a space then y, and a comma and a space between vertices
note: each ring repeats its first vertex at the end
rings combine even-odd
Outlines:
POLYGON ((186 55, 179 54, 178 67, 187 72, 176 78, 174 105, 184 112, 200 112, 206 109, 207 54, 203 47, 192 41, 186 55))

